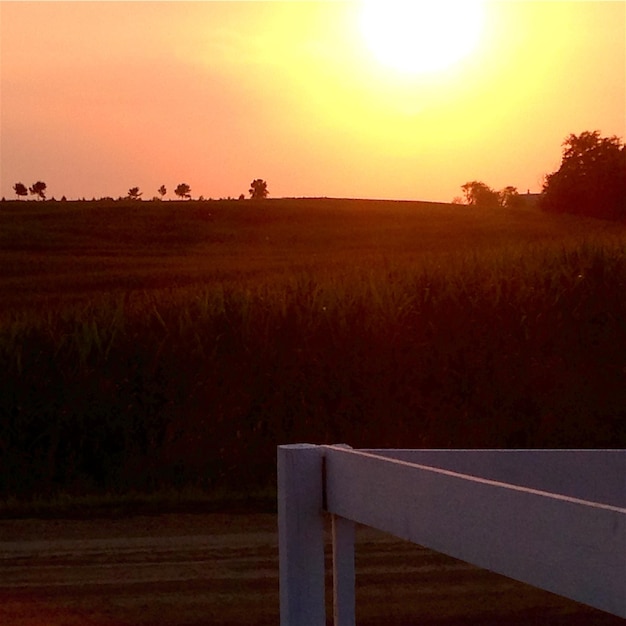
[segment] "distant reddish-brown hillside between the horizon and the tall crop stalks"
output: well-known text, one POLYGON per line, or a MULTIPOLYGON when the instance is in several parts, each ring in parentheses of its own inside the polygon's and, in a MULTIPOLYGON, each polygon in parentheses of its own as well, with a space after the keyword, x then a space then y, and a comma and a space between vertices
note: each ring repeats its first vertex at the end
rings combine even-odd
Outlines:
POLYGON ((3 307, 52 306, 109 291, 418 263, 625 230, 535 209, 427 202, 5 201, 0 299, 3 307))

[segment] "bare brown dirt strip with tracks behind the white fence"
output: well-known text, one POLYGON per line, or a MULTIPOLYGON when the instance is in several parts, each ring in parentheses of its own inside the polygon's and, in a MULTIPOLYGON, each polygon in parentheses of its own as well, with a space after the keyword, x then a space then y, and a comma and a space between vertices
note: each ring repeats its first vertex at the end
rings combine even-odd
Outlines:
MULTIPOLYGON (((361 626, 624 625, 372 529, 356 569, 361 626)), ((275 515, 0 521, 3 626, 278 623, 275 515)))

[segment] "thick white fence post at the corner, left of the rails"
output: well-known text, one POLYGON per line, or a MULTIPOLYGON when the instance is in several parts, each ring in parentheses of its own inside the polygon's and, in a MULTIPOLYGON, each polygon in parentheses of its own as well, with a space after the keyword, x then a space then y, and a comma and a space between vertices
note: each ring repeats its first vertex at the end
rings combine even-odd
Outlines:
POLYGON ((278 447, 281 626, 325 626, 323 449, 278 447))

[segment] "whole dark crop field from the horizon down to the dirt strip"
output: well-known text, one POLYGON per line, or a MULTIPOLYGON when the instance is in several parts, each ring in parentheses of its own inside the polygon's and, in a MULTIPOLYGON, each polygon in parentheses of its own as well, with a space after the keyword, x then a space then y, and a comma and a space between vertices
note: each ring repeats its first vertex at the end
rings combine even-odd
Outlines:
POLYGON ((0 204, 0 499, 255 491, 281 443, 626 445, 626 225, 0 204))

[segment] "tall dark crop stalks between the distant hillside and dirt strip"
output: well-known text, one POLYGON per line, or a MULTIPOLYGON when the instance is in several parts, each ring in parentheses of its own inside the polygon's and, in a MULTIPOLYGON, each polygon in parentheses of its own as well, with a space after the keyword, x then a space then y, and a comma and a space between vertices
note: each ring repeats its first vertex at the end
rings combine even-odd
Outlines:
POLYGON ((381 255, 364 233, 350 265, 303 263, 309 241, 266 278, 6 308, 0 494, 254 488, 295 441, 626 444, 621 236, 381 255))

